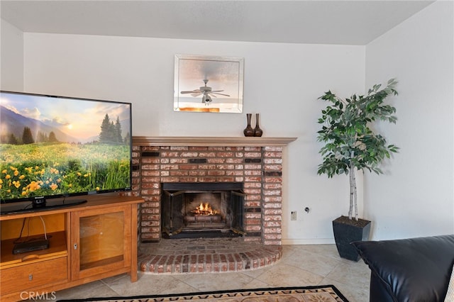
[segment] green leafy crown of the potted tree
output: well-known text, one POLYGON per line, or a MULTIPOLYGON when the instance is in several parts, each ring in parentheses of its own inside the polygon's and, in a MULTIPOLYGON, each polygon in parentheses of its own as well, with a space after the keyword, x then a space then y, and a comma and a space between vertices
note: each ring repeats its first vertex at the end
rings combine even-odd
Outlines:
POLYGON ((320 99, 328 100, 331 106, 322 111, 319 123, 322 130, 317 133, 317 140, 325 142, 319 153, 322 164, 318 173, 333 177, 335 174, 348 174, 350 164, 357 169, 365 169, 381 174, 377 167, 382 160, 390 158, 391 152, 397 152, 399 147, 387 145, 380 133, 374 131, 373 123, 377 120, 396 123, 393 114, 396 108, 384 104, 388 96, 397 95, 395 79, 390 79, 386 87, 375 84, 368 89, 367 96, 353 94, 350 98, 338 98, 330 91, 320 99))

